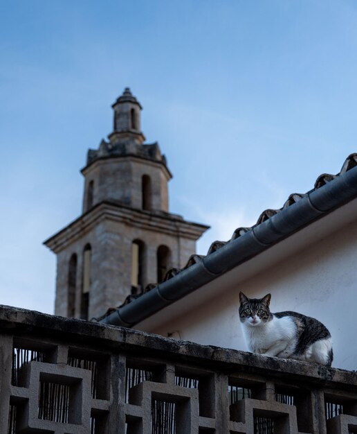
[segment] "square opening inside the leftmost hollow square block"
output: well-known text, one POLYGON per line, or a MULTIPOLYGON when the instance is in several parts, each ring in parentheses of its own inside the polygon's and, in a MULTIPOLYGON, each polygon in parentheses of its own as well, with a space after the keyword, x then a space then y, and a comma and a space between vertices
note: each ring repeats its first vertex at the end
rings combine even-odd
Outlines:
POLYGON ((82 424, 81 381, 41 373, 38 418, 61 424, 82 424))

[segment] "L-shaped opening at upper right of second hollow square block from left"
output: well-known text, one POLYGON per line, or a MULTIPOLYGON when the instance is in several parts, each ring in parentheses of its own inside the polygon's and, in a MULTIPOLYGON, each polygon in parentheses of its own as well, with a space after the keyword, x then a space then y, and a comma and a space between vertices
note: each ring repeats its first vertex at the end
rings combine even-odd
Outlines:
POLYGON ((175 367, 175 384, 199 390, 199 415, 214 418, 214 375, 186 367, 175 367))

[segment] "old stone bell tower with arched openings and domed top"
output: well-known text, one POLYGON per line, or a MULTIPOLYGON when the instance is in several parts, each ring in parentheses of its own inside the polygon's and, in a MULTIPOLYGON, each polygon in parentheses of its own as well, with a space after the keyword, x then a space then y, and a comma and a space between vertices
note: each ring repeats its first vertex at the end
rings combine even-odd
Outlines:
POLYGON ((82 215, 44 242, 57 255, 56 315, 103 315, 182 268, 208 229, 168 211, 172 174, 157 142, 144 144, 129 88, 112 107, 113 132, 82 169, 82 215))

